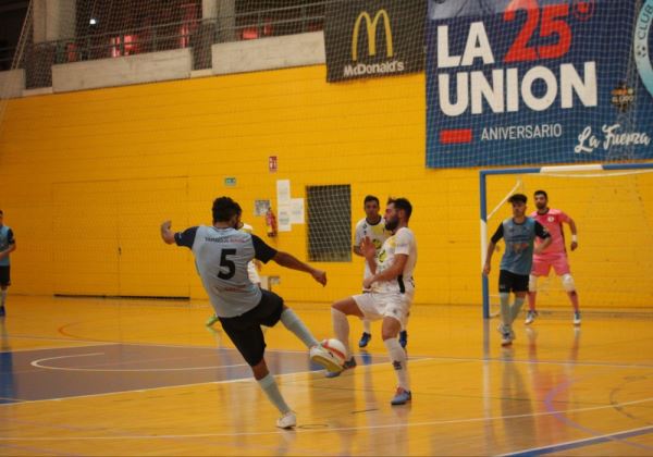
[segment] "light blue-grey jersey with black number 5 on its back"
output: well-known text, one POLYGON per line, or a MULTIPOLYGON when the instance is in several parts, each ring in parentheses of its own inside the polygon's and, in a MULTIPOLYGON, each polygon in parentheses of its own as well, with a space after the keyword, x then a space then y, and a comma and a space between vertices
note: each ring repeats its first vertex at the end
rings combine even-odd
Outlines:
POLYGON ((267 263, 276 250, 256 235, 235 228, 200 225, 174 234, 178 246, 193 250, 195 264, 215 314, 233 318, 255 308, 261 291, 247 275, 247 263, 267 263))

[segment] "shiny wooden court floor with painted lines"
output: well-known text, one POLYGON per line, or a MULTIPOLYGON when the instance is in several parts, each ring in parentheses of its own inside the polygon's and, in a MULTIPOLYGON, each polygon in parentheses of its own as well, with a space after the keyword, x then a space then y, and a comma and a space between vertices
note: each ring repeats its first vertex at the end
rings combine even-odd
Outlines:
MULTIPOLYGON (((328 305, 291 305, 331 336, 328 305)), ((280 324, 267 357, 298 419, 281 431, 206 304, 10 295, 8 312, 0 455, 653 455, 651 314, 542 313, 502 349, 480 309, 415 307, 401 407, 378 324, 337 379, 280 324)))

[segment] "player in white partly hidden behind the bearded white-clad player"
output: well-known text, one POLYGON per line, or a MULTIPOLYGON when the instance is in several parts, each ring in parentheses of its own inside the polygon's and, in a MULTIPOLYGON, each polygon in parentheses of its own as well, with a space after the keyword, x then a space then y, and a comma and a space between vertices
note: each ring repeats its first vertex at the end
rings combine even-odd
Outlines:
MULTIPOLYGON (((352 250, 355 255, 364 257, 360 251, 360 244, 362 239, 368 237, 377 249, 377 254, 381 250, 383 246, 383 242, 390 236, 390 232, 385 230, 385 219, 379 213, 381 205, 379 203, 379 199, 373 195, 368 195, 365 197, 362 202, 362 208, 365 210, 365 218, 362 218, 358 223, 356 223, 356 230, 354 232, 354 246, 352 250)), ((369 277, 371 275, 370 267, 367 262, 365 262, 365 271, 362 279, 369 277)), ((369 289, 364 289, 364 293, 370 292, 369 289)), ((358 342, 358 347, 367 347, 370 339, 372 338, 372 330, 371 323, 368 319, 362 319, 362 335, 360 335, 360 341, 358 342)), ((402 347, 406 347, 408 344, 408 332, 406 329, 402 326, 402 331, 399 332, 399 344, 402 347)))

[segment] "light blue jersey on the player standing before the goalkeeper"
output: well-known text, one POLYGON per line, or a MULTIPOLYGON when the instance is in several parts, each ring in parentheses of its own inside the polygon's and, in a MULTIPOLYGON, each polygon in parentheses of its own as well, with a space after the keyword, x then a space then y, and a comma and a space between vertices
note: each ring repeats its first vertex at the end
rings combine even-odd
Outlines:
POLYGON ((504 220, 492 235, 492 243, 496 244, 501 238, 504 238, 506 243, 500 269, 515 274, 529 275, 533 264, 535 237, 549 238, 550 236, 546 228, 534 219, 526 218, 520 224, 516 223, 513 218, 504 220))

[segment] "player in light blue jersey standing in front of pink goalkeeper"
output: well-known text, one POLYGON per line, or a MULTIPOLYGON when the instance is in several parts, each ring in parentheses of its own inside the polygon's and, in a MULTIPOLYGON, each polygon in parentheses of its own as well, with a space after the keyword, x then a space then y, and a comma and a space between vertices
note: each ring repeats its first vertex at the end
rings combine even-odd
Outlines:
POLYGON ((488 244, 483 274, 490 274, 492 255, 496 243, 504 238, 505 252, 501 259, 498 274, 498 297, 501 300, 502 324, 498 331, 502 334, 502 346, 509 346, 515 339, 513 322, 519 314, 526 294, 528 293, 528 281, 533 263, 533 252, 540 254, 551 244, 551 235, 546 228, 533 219, 526 217, 527 197, 523 194, 515 194, 508 198, 513 205, 513 218, 504 220, 492 235, 488 244), (537 247, 535 237, 543 239, 537 247), (515 294, 515 302, 510 306, 510 292, 515 294))

